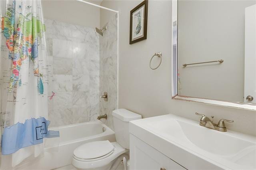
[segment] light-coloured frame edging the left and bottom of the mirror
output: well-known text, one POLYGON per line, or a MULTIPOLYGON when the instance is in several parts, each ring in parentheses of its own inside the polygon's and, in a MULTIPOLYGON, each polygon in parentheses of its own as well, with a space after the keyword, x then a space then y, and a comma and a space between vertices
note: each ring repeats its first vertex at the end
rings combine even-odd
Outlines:
POLYGON ((172 44, 171 44, 172 45, 172 99, 256 111, 256 103, 229 102, 229 101, 222 101, 222 100, 178 95, 178 0, 172 1, 172 11, 177 11, 177 16, 172 16, 172 44), (174 4, 174 3, 177 3, 177 4, 174 4), (175 7, 177 8, 176 10, 174 10, 175 7), (176 46, 176 59, 174 60, 173 28, 175 25, 177 25, 177 46, 176 46))

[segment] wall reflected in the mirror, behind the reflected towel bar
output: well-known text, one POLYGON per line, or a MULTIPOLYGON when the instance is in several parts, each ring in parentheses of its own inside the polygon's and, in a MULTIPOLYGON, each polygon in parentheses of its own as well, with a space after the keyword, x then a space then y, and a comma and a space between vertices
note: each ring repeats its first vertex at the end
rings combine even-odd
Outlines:
POLYGON ((179 95, 244 101, 245 8, 256 0, 178 1, 179 95), (197 63, 224 59, 222 64, 197 63))

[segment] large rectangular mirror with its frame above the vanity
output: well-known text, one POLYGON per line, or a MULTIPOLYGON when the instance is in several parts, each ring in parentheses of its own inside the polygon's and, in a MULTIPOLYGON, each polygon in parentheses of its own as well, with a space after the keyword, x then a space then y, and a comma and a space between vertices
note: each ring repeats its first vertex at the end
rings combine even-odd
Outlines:
POLYGON ((173 98, 256 110, 256 0, 172 8, 173 98))

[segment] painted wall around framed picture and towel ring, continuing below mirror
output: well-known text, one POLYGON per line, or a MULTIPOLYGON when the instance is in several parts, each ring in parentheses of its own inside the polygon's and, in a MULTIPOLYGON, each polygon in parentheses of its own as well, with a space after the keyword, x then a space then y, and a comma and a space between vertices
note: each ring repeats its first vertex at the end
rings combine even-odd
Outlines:
POLYGON ((172 3, 167 0, 148 2, 147 40, 129 45, 130 10, 141 1, 104 0, 101 5, 120 12, 119 107, 143 118, 172 113, 199 123, 195 112, 218 119, 233 119, 228 129, 256 135, 256 112, 171 99, 171 20, 172 3), (162 65, 151 70, 150 57, 161 51, 162 65))

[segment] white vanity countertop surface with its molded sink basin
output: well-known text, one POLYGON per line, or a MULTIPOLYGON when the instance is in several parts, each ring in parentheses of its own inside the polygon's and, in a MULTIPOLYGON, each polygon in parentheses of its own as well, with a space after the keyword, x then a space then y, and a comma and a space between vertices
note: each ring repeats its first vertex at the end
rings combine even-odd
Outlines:
POLYGON ((131 126, 132 124, 220 168, 256 169, 256 137, 254 136, 229 130, 219 132, 200 126, 199 121, 175 115, 136 120, 132 121, 131 126))

